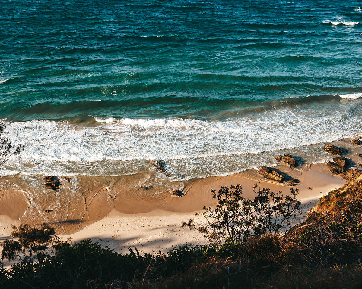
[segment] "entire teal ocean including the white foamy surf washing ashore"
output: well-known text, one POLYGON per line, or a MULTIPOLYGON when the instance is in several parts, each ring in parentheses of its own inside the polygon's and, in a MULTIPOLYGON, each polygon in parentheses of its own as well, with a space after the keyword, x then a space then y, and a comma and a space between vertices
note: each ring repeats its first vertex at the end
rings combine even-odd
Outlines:
POLYGON ((323 162, 323 143, 362 132, 361 5, 3 0, 0 118, 25 150, 1 174, 323 162))

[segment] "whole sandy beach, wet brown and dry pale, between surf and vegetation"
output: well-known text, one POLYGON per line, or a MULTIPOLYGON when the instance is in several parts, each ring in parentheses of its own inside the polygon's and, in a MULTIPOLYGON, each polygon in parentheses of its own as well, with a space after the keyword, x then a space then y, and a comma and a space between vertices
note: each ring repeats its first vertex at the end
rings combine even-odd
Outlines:
MULTIPOLYGON (((349 157, 352 167, 358 167, 359 156, 353 153, 349 157)), ((332 175, 325 163, 302 164, 296 168, 281 164, 276 168, 299 180, 293 188, 299 190, 301 220, 321 195, 345 184, 342 175, 332 175)), ((22 184, 19 185, 16 176, 7 177, 9 184, 16 181, 20 187, 22 184)), ((290 191, 290 186, 286 183, 267 180, 255 169, 229 176, 187 181, 182 197, 176 197, 171 191, 144 197, 137 194, 140 189, 135 188, 135 184, 126 184, 122 178, 76 176, 70 178, 70 181, 62 179, 62 190, 63 194, 64 190, 77 190, 78 194, 68 195, 70 197, 64 199, 64 204, 59 204, 52 202, 52 194, 59 192, 48 190, 43 199, 36 200, 36 208, 32 208, 35 200, 29 199, 25 190, 2 187, 0 240, 9 238, 12 224, 28 223, 34 226, 47 223, 55 227, 56 234, 62 236, 63 240, 102 240, 104 245, 123 253, 127 253, 132 246, 146 253, 160 250, 166 252, 186 243, 205 242, 195 232, 181 229, 180 226, 182 221, 194 218, 195 211, 202 210, 203 205, 213 205, 210 193, 212 189, 241 184, 244 196, 253 198, 253 185, 258 182, 261 188, 268 187, 285 194, 290 191), (75 178, 76 189, 72 184, 75 178), (39 210, 39 203, 42 211, 39 210)))

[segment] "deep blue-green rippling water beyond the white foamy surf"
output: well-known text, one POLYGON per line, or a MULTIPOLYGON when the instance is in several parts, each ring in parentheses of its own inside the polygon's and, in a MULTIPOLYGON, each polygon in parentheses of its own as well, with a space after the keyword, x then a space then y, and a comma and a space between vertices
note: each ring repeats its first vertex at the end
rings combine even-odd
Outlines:
POLYGON ((342 24, 358 1, 81 2, 1 1, 1 118, 224 119, 362 92, 361 24, 342 24))

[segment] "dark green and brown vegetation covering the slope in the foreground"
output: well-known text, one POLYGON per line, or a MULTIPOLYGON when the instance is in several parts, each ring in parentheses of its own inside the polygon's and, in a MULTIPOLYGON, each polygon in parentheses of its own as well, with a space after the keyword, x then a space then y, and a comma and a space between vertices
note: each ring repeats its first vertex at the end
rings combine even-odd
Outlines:
MULTIPOLYGON (((256 186, 254 200, 242 198, 241 186, 212 191, 218 205, 202 213, 210 221, 204 231, 209 243, 181 246, 167 254, 141 254, 135 247, 129 254, 118 254, 100 241, 61 242, 47 226, 13 227, 14 240, 3 242, 2 260, 20 259, 10 269, 1 266, 0 286, 361 288, 362 173, 352 169, 345 178, 344 187, 321 198, 296 226, 290 225, 298 208, 296 190, 287 198, 256 186), (277 198, 275 206, 270 198, 277 198), (258 215, 265 205, 266 213, 258 215), (279 216, 289 227, 284 234, 280 222, 265 218, 270 211, 282 212, 279 216), (236 212, 239 215, 233 215, 236 212), (258 216, 255 220, 252 212, 258 216), (213 217, 219 220, 211 221, 213 217), (249 228, 251 221, 257 225, 249 228), (232 222, 237 226, 230 227, 232 222), (229 233, 227 228, 234 229, 229 233)), ((206 225, 191 221, 185 226, 206 225)))

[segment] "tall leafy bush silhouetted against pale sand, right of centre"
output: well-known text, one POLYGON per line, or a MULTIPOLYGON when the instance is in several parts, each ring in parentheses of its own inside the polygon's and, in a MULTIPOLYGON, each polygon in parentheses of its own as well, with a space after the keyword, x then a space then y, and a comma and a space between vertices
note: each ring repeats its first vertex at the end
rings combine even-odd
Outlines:
POLYGON ((297 189, 290 189, 290 195, 260 189, 258 184, 253 189, 256 193, 253 200, 242 196, 240 185, 230 189, 223 186, 218 192, 212 190, 216 206, 204 206, 202 213, 196 213, 199 222, 190 219, 182 222, 182 228, 197 230, 209 243, 220 246, 224 241, 241 243, 251 236, 279 234, 295 224, 300 208, 297 189))

